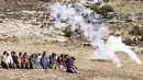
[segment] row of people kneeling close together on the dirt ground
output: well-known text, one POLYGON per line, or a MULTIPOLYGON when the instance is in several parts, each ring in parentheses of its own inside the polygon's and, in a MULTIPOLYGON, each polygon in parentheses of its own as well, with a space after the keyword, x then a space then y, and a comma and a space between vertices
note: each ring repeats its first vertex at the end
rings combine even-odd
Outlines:
POLYGON ((16 56, 15 52, 3 52, 1 66, 7 69, 57 69, 77 73, 75 60, 74 57, 64 54, 57 55, 53 53, 47 56, 46 52, 43 52, 43 54, 32 54, 31 56, 28 56, 26 53, 19 53, 19 56, 16 56))

